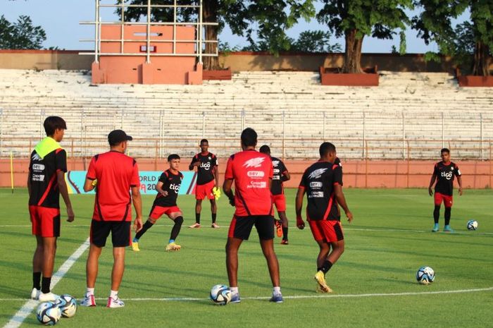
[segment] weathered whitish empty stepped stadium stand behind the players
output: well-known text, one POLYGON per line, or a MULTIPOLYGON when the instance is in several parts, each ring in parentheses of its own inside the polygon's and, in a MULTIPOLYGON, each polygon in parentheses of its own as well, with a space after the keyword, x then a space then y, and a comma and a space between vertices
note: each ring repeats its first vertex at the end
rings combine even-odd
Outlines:
POLYGON ((113 128, 136 137, 136 157, 188 156, 202 137, 224 157, 246 126, 288 159, 316 157, 320 140, 336 142, 346 159, 430 159, 443 145, 455 158, 482 159, 493 140, 493 90, 458 87, 447 73, 383 71, 379 87, 326 87, 316 72, 292 71, 242 71, 203 85, 96 86, 87 71, 0 74, 1 152, 18 157, 51 114, 67 121, 76 157, 105 150, 113 128))

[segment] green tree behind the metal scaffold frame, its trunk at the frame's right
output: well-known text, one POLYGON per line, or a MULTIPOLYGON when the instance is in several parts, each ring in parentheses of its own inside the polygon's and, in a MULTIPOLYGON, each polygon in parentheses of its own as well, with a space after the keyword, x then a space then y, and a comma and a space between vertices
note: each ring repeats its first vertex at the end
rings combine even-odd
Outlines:
MULTIPOLYGON (((118 0, 117 4, 147 4, 147 0, 118 0)), ((314 0, 204 0, 202 20, 204 23, 219 23, 206 28, 206 40, 217 40, 220 30, 228 25, 235 35, 246 37, 250 44, 255 39, 265 40, 268 50, 273 54, 289 49, 290 43, 285 30, 291 28, 301 18, 308 20, 315 14, 314 0)), ((198 4, 197 0, 182 0, 179 4, 198 4)), ((170 4, 169 0, 153 0, 152 4, 170 4)), ((120 10, 117 9, 120 14, 120 10)), ((140 20, 146 8, 126 8, 125 20, 140 20)), ((182 8, 177 11, 177 20, 196 19, 196 11, 182 8)), ((151 20, 173 20, 173 9, 153 8, 151 20)), ((205 53, 216 53, 217 44, 206 43, 205 53)), ((204 57, 204 69, 220 68, 217 57, 204 57)))

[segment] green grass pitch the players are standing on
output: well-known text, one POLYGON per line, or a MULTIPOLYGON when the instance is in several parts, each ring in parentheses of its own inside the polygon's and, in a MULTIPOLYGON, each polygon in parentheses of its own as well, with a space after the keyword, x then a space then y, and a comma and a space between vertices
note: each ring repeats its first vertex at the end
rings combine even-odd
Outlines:
MULTIPOLYGON (((239 250, 242 303, 223 307, 208 300, 215 284, 227 284, 225 242, 233 208, 219 201, 218 224, 211 229, 204 202, 202 228, 194 223, 194 198, 180 196, 185 224, 166 253, 171 221, 162 218, 141 239, 141 252, 127 250, 120 297, 125 308, 105 308, 110 288, 111 247, 103 251, 96 282, 96 308, 78 308, 58 327, 491 327, 493 321, 492 190, 465 190, 455 196, 451 226, 456 233, 431 233, 432 198, 427 190, 346 189, 354 221, 343 221, 346 252, 327 274, 332 294, 317 294, 318 247, 309 229, 294 226, 294 193, 287 190, 289 245, 275 239, 285 303, 268 302, 272 287, 256 231, 239 250), (478 231, 467 231, 476 219, 478 231), (417 284, 422 265, 435 269, 430 286, 417 284)), ((144 197, 144 218, 152 200, 144 197)), ((63 220, 55 270, 89 234, 94 198, 73 195, 76 219, 63 220)), ((0 190, 0 326, 30 295, 32 253, 27 190, 0 190)), ((306 200, 305 200, 306 204, 306 200)), ((65 214, 62 208, 62 214, 65 214)), ((443 227, 443 208, 440 228, 443 227)), ((308 227, 307 227, 308 228, 308 227)), ((108 241, 111 245, 111 241, 108 241)), ((54 293, 81 298, 87 251, 54 287, 54 293)), ((21 327, 37 326, 34 311, 21 327)))

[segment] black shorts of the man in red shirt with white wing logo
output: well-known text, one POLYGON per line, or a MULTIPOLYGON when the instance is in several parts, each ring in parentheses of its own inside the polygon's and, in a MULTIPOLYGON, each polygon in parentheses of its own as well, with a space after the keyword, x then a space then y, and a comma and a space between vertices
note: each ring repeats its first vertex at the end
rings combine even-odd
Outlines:
POLYGON ((257 229, 258 238, 264 241, 274 238, 274 217, 272 215, 251 215, 249 217, 235 215, 231 220, 227 236, 248 241, 253 226, 257 229))

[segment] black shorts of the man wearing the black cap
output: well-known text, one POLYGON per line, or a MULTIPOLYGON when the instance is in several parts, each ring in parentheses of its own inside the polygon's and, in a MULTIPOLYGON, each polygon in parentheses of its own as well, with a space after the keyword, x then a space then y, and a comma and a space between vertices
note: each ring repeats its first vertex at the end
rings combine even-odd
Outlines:
POLYGON ((130 221, 91 221, 91 243, 98 247, 106 245, 111 232, 113 247, 127 247, 132 242, 130 221))

